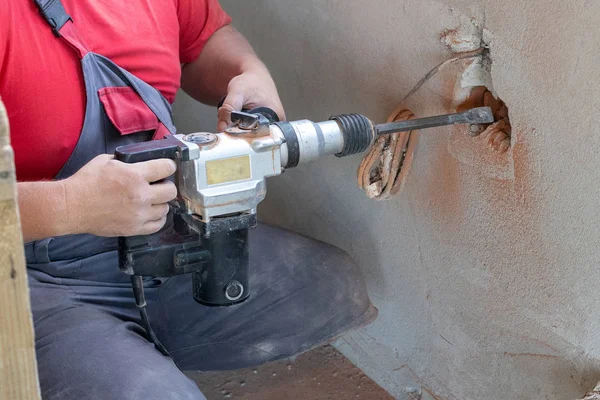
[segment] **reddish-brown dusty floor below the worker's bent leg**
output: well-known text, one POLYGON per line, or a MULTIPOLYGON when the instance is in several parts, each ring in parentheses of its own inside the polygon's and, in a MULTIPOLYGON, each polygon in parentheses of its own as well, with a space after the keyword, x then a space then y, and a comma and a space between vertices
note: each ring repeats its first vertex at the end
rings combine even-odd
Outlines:
POLYGON ((188 376, 208 400, 394 400, 331 346, 257 368, 188 376))

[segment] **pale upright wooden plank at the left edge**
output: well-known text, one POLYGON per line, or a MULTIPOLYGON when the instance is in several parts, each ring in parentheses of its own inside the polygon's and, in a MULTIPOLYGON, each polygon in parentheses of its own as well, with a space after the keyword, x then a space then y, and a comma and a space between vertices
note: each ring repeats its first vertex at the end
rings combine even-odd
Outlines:
POLYGON ((0 400, 40 399, 8 118, 0 100, 0 400))

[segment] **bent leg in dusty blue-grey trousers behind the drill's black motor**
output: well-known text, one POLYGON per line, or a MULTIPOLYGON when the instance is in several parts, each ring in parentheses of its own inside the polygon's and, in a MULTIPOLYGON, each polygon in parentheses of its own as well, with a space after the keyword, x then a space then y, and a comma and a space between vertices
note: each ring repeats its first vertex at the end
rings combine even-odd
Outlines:
POLYGON ((373 320, 357 265, 340 249, 259 225, 250 235, 250 298, 224 308, 171 278, 149 304, 153 326, 184 369, 228 370, 290 357, 373 320))

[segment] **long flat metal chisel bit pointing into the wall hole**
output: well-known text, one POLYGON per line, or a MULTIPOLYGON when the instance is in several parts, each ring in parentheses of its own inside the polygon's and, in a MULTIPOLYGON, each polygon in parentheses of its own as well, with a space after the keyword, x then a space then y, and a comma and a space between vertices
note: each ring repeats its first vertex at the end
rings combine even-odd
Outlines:
POLYGON ((387 135, 396 132, 414 131, 417 129, 435 128, 454 124, 491 124, 494 115, 490 107, 472 108, 465 112, 435 117, 416 118, 407 121, 388 122, 375 126, 378 135, 387 135))

